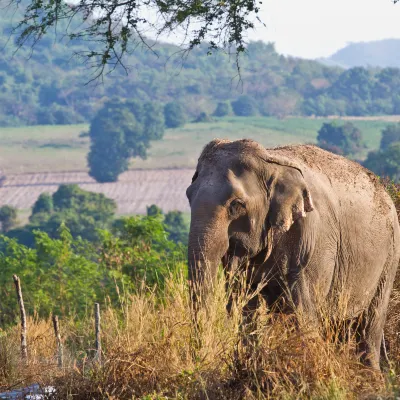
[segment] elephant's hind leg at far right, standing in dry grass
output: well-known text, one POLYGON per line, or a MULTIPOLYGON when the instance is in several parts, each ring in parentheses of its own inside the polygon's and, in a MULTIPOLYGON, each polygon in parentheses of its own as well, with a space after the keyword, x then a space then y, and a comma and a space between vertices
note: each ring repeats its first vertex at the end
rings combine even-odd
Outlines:
POLYGON ((361 360, 367 366, 380 370, 381 346, 390 293, 397 270, 397 262, 391 262, 379 280, 377 291, 368 309, 364 312, 359 326, 359 350, 361 360))

